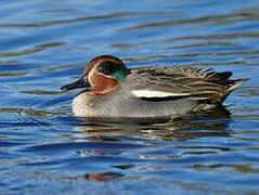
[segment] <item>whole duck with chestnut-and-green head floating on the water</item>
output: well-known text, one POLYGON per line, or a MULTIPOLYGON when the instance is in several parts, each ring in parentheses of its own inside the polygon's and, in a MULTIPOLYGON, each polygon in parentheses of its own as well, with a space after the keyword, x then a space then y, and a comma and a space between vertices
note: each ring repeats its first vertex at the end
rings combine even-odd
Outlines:
POLYGON ((79 79, 61 90, 82 88, 72 103, 76 117, 173 119, 222 105, 247 80, 231 76, 232 72, 184 65, 128 68, 116 56, 101 55, 90 61, 79 79))

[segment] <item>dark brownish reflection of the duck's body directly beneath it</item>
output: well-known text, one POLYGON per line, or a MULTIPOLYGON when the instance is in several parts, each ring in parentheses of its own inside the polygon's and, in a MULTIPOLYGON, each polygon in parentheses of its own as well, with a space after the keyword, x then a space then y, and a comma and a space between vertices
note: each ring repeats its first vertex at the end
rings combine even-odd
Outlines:
POLYGON ((217 110, 166 122, 134 121, 129 123, 87 120, 85 125, 75 127, 75 130, 80 131, 78 136, 83 136, 81 131, 85 131, 88 133, 88 140, 100 142, 120 142, 128 139, 186 141, 203 136, 229 136, 230 116, 231 113, 225 107, 220 107, 217 110))

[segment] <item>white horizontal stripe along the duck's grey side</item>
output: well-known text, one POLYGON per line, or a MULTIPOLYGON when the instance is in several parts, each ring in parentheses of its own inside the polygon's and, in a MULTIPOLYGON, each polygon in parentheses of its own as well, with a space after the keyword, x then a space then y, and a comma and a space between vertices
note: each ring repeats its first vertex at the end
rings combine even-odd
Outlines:
POLYGON ((169 98, 169 96, 187 96, 190 93, 171 93, 165 91, 152 91, 152 90, 133 90, 131 92, 138 98, 169 98))

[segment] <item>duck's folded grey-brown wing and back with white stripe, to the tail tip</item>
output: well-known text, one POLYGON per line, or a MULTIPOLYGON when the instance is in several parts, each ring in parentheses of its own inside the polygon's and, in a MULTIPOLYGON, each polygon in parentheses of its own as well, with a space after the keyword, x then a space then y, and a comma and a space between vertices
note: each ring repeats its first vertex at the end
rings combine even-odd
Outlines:
POLYGON ((155 66, 131 69, 131 93, 146 101, 192 99, 220 103, 244 79, 230 80, 231 72, 216 73, 186 66, 155 66))

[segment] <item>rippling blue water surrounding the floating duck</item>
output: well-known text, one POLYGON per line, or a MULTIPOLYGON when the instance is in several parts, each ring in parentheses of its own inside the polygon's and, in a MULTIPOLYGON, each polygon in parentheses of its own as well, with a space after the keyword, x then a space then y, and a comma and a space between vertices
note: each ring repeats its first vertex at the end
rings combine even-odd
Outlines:
POLYGON ((1 194, 256 194, 259 1, 0 2, 1 194), (226 110, 166 123, 75 118, 62 92, 92 57, 250 78, 226 110))

